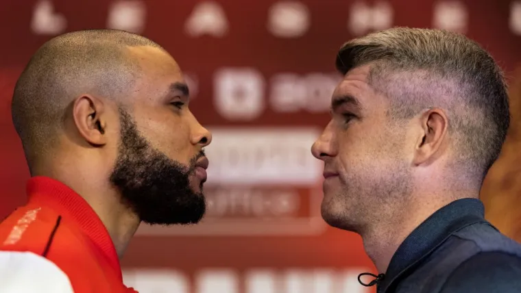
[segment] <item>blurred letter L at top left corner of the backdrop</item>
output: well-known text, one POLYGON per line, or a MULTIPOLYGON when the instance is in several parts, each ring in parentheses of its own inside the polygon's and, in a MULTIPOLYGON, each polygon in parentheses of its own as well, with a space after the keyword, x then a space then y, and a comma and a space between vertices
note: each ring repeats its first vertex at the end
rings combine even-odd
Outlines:
POLYGON ((31 29, 39 35, 58 35, 65 31, 67 21, 62 14, 54 12, 51 1, 38 1, 34 6, 31 29))

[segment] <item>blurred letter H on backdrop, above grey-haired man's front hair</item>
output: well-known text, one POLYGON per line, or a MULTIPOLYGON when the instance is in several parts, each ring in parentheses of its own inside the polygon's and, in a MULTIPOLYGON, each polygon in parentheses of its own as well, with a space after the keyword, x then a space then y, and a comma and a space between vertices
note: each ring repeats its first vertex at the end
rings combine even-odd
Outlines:
POLYGON ((377 1, 372 7, 365 1, 356 1, 351 6, 348 27, 355 35, 388 29, 392 25, 393 8, 387 1, 377 1))

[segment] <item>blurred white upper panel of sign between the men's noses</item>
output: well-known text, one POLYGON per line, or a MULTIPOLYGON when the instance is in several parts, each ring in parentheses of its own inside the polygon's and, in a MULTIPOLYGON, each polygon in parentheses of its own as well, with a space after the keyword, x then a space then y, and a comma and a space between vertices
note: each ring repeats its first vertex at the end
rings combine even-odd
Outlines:
POLYGON ((323 164, 311 155, 318 127, 208 127, 209 184, 316 186, 323 164))

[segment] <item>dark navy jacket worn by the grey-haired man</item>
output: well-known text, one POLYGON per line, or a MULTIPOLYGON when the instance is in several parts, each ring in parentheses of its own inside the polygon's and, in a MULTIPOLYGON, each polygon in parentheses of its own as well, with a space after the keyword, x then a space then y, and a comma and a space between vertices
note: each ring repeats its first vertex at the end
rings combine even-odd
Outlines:
POLYGON ((378 293, 521 293, 521 244, 484 213, 478 199, 435 212, 398 247, 378 293))

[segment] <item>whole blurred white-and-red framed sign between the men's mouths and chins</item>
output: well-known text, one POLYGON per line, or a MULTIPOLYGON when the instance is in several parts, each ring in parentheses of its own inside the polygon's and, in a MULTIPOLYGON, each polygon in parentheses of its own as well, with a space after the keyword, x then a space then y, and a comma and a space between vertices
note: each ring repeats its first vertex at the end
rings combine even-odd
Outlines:
POLYGON ((213 128, 199 225, 141 225, 137 235, 317 235, 323 165, 311 155, 319 129, 213 128))

